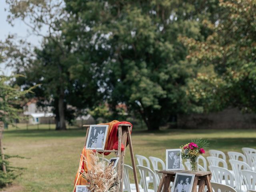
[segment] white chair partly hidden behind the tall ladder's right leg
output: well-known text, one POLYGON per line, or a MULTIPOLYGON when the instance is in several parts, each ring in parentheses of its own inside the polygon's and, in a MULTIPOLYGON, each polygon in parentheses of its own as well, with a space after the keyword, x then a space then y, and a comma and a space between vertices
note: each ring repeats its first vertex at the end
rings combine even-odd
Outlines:
MULTIPOLYGON (((130 183, 129 179, 129 172, 133 172, 133 168, 129 165, 124 164, 124 189, 123 191, 127 192, 136 192, 136 185, 135 183, 130 183)), ((140 192, 144 192, 143 188, 141 185, 139 185, 139 190, 140 192)))

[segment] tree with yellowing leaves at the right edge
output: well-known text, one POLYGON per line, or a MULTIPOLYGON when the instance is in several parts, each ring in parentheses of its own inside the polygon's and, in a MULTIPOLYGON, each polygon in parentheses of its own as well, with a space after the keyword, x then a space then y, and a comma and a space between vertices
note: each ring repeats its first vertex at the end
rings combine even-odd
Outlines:
POLYGON ((209 31, 205 39, 180 38, 189 48, 189 60, 214 71, 213 76, 198 75, 197 88, 212 82, 208 90, 201 89, 204 95, 198 94, 198 99, 206 104, 213 98, 204 110, 233 105, 256 112, 256 1, 220 0, 217 10, 216 21, 203 21, 209 31))

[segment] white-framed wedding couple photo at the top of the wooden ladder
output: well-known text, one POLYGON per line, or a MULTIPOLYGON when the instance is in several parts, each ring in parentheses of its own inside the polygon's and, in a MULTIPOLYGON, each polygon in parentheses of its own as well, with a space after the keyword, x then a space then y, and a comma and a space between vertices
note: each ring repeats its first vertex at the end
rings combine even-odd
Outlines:
POLYGON ((108 125, 90 125, 86 149, 104 150, 108 134, 108 125))

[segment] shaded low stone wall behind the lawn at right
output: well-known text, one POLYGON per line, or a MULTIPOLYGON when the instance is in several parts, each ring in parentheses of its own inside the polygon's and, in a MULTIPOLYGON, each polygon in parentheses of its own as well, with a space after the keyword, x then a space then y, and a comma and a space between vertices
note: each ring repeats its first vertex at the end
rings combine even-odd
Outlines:
POLYGON ((243 129, 256 128, 256 114, 243 114, 237 108, 228 108, 209 114, 180 115, 178 128, 243 129))

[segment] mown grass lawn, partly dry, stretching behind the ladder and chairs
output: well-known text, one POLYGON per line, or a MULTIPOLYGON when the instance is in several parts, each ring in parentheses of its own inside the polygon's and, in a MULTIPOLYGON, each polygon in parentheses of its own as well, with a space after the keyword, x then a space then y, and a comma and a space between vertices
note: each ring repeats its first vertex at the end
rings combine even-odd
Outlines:
MULTIPOLYGON (((18 126, 19 127, 19 126, 18 126)), ((22 127, 22 126, 21 126, 22 127)), ((6 154, 29 159, 12 159, 12 165, 26 168, 6 192, 71 192, 78 169, 80 152, 84 145, 85 130, 37 130, 31 127, 10 128, 4 132, 6 154)), ((165 159, 165 150, 179 148, 192 138, 206 138, 210 149, 241 152, 242 147, 256 148, 256 130, 165 130, 146 132, 134 129, 132 142, 135 154, 165 159)), ((130 162, 129 148, 126 164, 130 162)), ((206 151, 206 155, 207 151, 206 151)), ((108 156, 106 156, 109 158, 108 156)))

